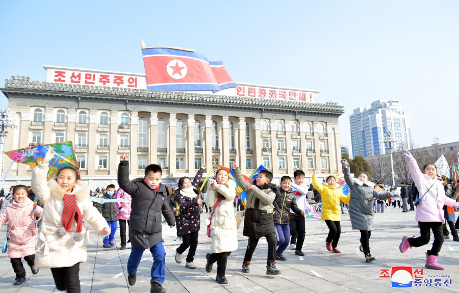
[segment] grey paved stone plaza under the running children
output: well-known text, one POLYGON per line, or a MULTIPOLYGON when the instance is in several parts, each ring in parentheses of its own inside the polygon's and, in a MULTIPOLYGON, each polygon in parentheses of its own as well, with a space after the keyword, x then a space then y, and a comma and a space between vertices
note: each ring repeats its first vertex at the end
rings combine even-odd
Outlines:
MULTIPOLYGON (((207 217, 208 214, 203 214, 201 218, 206 219, 207 217)), ((210 243, 204 224, 199 234, 199 245, 194 260, 197 266, 195 270, 185 268, 185 254, 181 264, 174 261, 174 251, 179 245, 179 242, 174 241, 175 228, 170 229, 167 224, 163 224, 164 245, 167 253, 166 280, 163 286, 167 292, 177 293, 459 291, 459 279, 457 278, 459 276, 459 242, 453 242, 452 239, 445 240, 439 257, 439 262, 446 267, 444 271, 424 268, 424 252, 430 248, 432 237, 429 245, 409 249, 405 254, 400 253, 398 246, 402 236, 419 235, 414 219, 415 212, 402 213, 399 208, 386 208, 384 213, 375 214, 370 248, 376 260, 371 263, 366 263, 363 253, 359 251, 360 233, 351 229, 349 215, 342 215, 341 218, 342 233, 338 246, 341 254, 331 253, 325 249, 328 229, 321 231, 322 225, 318 221, 307 220, 306 239, 303 246, 305 256, 295 255, 294 250, 287 249, 284 253, 287 261, 276 262, 277 268, 282 271, 282 274, 278 276, 265 274, 267 243, 264 239, 259 242, 253 256, 250 265, 251 272, 246 274, 241 272, 242 259, 247 245, 247 238, 242 235, 241 226, 238 230, 239 249, 228 258, 226 270, 228 284, 226 285, 219 285, 215 282, 216 263, 212 273, 206 273, 205 255, 210 252, 210 243), (389 278, 380 278, 381 269, 390 270, 391 267, 398 266, 413 267, 413 270, 424 269, 422 285, 416 287, 413 284, 411 288, 392 288, 389 278), (450 277, 430 278, 428 274, 444 274, 450 277), (432 283, 428 284, 430 279, 432 283), (434 279, 440 279, 441 286, 435 286, 434 279), (452 284, 446 286, 444 282, 449 279, 452 279, 452 284)), ((0 233, 5 235, 5 227, 2 227, 0 233)), ((116 240, 118 237, 119 232, 116 234, 116 240)), ((3 237, 1 240, 3 241, 3 237)), ((116 247, 105 249, 102 247, 101 239, 94 234, 91 234, 90 242, 88 261, 80 265, 82 292, 149 292, 152 257, 148 251, 144 253, 137 272, 137 283, 129 286, 126 263, 131 250, 118 250, 116 247)), ((118 245, 119 241, 117 241, 118 245)), ((54 285, 49 269, 42 269, 38 275, 32 275, 27 263, 24 262, 27 282, 22 286, 13 286, 15 275, 6 254, 1 255, 0 264, 0 292, 2 293, 59 292, 54 285)))

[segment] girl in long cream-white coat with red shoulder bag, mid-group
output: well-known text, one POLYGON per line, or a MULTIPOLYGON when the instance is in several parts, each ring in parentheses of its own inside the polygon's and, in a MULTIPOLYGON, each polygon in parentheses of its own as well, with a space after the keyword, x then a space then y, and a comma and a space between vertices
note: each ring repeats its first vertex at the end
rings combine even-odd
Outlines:
POLYGON ((230 180, 226 170, 219 169, 215 173, 215 179, 210 180, 207 186, 207 203, 213 209, 210 226, 211 253, 206 255, 206 272, 212 272, 212 265, 217 262, 216 281, 227 284, 226 261, 228 255, 238 249, 238 230, 233 207, 236 183, 230 180))

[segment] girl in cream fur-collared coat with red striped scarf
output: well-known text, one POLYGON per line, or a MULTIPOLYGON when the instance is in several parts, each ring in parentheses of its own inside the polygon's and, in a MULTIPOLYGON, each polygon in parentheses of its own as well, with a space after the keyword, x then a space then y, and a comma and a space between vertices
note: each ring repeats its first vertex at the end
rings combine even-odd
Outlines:
POLYGON ((56 155, 49 148, 43 161, 32 172, 32 190, 44 204, 42 231, 38 237, 37 267, 51 268, 58 290, 79 293, 80 262, 86 262, 87 231, 83 218, 99 233, 108 235, 110 228, 89 199, 89 186, 80 181, 77 169, 65 167, 56 179, 46 177, 49 161, 56 155))

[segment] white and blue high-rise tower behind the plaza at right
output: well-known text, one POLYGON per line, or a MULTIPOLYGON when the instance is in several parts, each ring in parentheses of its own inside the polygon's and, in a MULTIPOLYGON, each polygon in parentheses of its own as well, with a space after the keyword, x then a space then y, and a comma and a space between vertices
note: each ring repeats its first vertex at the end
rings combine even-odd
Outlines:
POLYGON ((364 157, 385 154, 384 140, 392 132, 394 151, 412 148, 410 118, 396 100, 377 100, 370 108, 357 108, 349 116, 352 155, 364 157))

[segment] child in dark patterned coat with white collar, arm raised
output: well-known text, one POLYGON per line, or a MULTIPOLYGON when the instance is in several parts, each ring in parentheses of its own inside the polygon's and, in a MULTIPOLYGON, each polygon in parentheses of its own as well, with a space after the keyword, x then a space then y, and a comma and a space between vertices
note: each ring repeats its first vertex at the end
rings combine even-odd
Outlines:
POLYGON ((175 261, 182 263, 182 253, 188 248, 187 263, 185 265, 188 269, 196 269, 193 264, 194 255, 196 254, 197 239, 200 228, 200 210, 199 205, 202 206, 201 192, 197 189, 199 180, 202 177, 202 173, 206 165, 202 165, 201 168, 194 176, 193 182, 190 178, 182 177, 179 179, 179 189, 176 191, 175 201, 179 204, 179 234, 182 236, 183 242, 175 250, 175 261))

